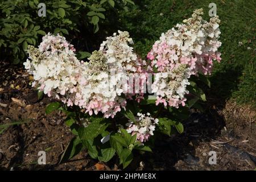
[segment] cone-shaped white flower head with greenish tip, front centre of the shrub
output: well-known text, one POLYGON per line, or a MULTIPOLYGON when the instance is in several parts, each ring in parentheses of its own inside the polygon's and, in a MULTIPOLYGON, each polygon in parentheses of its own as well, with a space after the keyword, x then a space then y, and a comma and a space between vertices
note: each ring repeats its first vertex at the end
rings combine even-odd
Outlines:
MULTIPOLYGON (((102 51, 94 51, 89 57, 89 63, 84 63, 85 72, 79 84, 76 105, 84 107, 90 115, 104 113, 104 117, 114 117, 126 106, 125 98, 121 97, 122 89, 115 89, 122 73, 109 75, 109 64, 102 51)), ((114 70, 114 68, 112 68, 114 70)), ((115 71, 115 70, 114 70, 115 71)))

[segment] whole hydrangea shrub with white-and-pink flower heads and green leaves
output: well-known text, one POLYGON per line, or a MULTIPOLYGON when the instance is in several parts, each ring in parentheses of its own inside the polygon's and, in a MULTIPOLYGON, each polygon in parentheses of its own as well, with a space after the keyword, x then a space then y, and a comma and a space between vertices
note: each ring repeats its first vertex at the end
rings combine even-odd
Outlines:
POLYGON ((129 32, 106 38, 88 61, 76 58, 63 36, 47 34, 38 48, 28 46, 24 63, 34 76, 32 86, 53 97, 47 113, 62 110, 75 137, 61 162, 83 148, 93 159, 119 156, 127 167, 134 150, 149 151, 155 135, 183 132, 189 109, 200 108, 205 94, 196 81, 209 85, 214 60, 220 62, 218 16, 202 19, 195 10, 163 33, 143 60, 133 51, 129 32))

